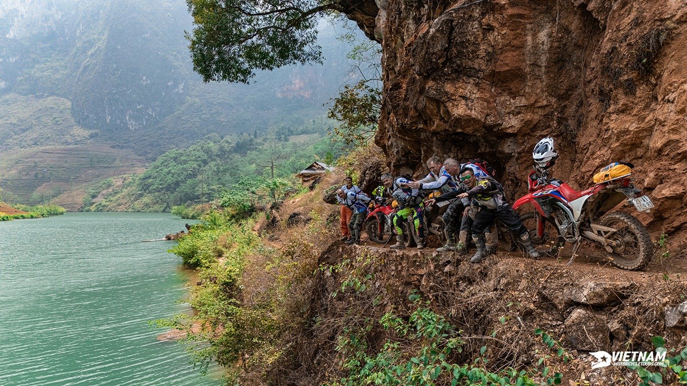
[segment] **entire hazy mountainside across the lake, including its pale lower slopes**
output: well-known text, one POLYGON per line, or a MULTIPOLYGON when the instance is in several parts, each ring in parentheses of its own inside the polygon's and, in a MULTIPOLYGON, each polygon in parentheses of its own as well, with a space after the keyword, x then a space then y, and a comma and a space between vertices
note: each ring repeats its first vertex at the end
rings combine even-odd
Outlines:
MULTIPOLYGON (((350 68, 343 22, 321 24, 324 65, 258 73, 252 84, 203 83, 191 29, 184 0, 1 0, 5 198, 34 203, 142 172, 210 133, 326 131, 323 104, 350 68)), ((69 197, 74 207, 82 194, 69 197)))

